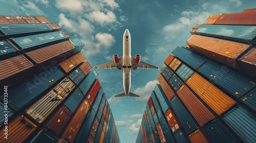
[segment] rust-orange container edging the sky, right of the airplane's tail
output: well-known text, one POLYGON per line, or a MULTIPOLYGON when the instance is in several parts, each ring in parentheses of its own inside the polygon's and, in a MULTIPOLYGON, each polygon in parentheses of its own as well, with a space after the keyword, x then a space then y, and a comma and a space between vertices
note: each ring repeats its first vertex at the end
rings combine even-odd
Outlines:
POLYGON ((166 98, 170 102, 170 100, 173 98, 173 96, 175 94, 174 90, 169 86, 168 82, 163 78, 161 73, 158 75, 157 80, 160 83, 160 85, 165 93, 166 98))

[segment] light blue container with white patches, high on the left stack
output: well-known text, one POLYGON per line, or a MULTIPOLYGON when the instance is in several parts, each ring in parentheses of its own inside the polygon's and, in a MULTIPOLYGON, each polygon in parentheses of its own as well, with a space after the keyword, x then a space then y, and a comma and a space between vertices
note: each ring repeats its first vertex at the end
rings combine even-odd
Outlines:
POLYGON ((50 32, 30 35, 25 37, 11 38, 14 45, 24 52, 39 49, 44 46, 67 41, 67 36, 62 32, 50 32))

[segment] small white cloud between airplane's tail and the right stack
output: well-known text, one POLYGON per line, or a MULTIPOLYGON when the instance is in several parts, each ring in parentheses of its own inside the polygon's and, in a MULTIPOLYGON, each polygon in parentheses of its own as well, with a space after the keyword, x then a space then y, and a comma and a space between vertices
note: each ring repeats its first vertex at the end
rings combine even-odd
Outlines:
POLYGON ((146 85, 144 87, 137 87, 134 90, 135 94, 138 94, 140 96, 140 98, 136 98, 136 101, 138 102, 146 102, 148 100, 148 98, 151 95, 152 90, 154 90, 156 84, 158 84, 159 82, 157 80, 154 81, 150 81, 148 83, 146 83, 146 85))

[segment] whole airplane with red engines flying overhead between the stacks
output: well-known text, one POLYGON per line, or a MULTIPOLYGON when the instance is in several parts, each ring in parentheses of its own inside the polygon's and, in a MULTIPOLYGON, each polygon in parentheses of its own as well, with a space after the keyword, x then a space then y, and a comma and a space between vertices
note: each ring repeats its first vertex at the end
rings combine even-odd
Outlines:
POLYGON ((117 68, 118 70, 123 69, 123 89, 124 92, 116 94, 114 97, 140 97, 137 94, 130 92, 131 88, 131 69, 135 70, 137 68, 157 68, 158 67, 145 63, 140 60, 140 55, 136 54, 136 57, 131 56, 131 35, 128 29, 123 33, 123 56, 118 58, 117 54, 114 54, 114 60, 108 63, 104 63, 96 66, 95 68, 105 68, 112 69, 117 68))

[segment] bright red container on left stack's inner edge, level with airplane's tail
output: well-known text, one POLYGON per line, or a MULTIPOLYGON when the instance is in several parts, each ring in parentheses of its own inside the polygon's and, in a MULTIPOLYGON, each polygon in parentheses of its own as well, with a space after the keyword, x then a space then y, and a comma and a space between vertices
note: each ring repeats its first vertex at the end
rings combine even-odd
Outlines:
POLYGON ((99 90, 100 87, 100 81, 99 79, 96 79, 92 85, 92 87, 90 88, 90 90, 87 92, 87 100, 90 102, 90 104, 93 104, 93 101, 97 95, 97 92, 99 90))

